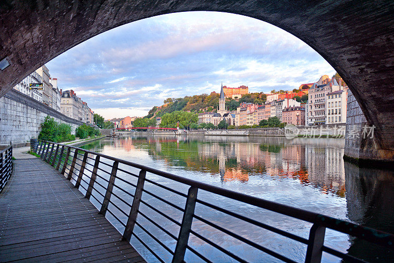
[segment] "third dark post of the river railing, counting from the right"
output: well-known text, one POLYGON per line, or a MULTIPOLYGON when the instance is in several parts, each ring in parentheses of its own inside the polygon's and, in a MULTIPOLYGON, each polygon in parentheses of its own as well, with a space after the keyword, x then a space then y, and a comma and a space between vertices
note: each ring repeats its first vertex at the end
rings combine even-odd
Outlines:
POLYGON ((125 232, 123 233, 123 239, 127 240, 128 242, 130 242, 135 221, 137 220, 139 203, 141 201, 141 196, 142 196, 142 189, 144 188, 144 183, 145 183, 145 176, 146 176, 146 171, 141 170, 138 176, 137 187, 135 188, 134 199, 132 200, 129 219, 126 224, 125 232))

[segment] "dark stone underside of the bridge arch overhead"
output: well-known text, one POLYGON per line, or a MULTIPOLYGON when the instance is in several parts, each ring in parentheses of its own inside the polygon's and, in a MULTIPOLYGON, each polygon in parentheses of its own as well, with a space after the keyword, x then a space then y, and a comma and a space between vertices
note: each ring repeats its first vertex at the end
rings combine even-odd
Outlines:
POLYGON ((0 60, 8 57, 11 66, 0 73, 0 97, 88 38, 182 11, 245 15, 300 38, 349 85, 367 122, 376 126, 377 148, 394 151, 393 0, 5 0, 0 3, 0 60))

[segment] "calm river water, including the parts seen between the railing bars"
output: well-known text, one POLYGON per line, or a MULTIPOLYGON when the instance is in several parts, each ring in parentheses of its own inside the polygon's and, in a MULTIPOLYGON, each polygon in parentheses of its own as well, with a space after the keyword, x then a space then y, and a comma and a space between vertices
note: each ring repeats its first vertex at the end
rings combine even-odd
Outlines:
MULTIPOLYGON (((343 139, 328 138, 288 140, 284 137, 130 135, 102 139, 81 148, 220 188, 394 233, 393 171, 359 168, 344 162, 342 159, 343 147, 343 139)), ((92 161, 90 160, 90 162, 92 161)), ((110 172, 110 167, 107 168, 110 172)), ((105 170, 105 167, 103 169, 105 170)), ((122 169, 126 169, 126 167, 122 167, 122 169)), ((133 172, 138 174, 137 170, 133 172)), ((105 174, 101 173, 101 176, 105 177, 105 174)), ((134 184, 136 182, 135 178, 126 173, 118 171, 118 176, 134 184)), ((187 193, 188 188, 179 183, 148 174, 147 178, 187 193)), ((84 183, 82 182, 82 184, 84 183)), ((101 184, 105 185, 105 182, 102 181, 101 184)), ((124 188, 129 187, 120 181, 117 184, 124 188)), ((185 206, 185 198, 183 197, 179 198, 179 196, 154 185, 146 184, 144 188, 182 208, 185 206)), ((133 193, 134 188, 129 190, 133 193)), ((116 191, 114 188, 114 192, 125 200, 131 200, 122 191, 116 191)), ((198 198, 308 238, 311 226, 309 223, 257 209, 204 191, 198 192, 198 198)), ((181 222, 182 213, 180 211, 146 193, 143 193, 142 200, 181 222)), ((92 201, 99 206, 94 199, 92 201)), ((129 213, 130 208, 122 202, 118 202, 117 205, 129 213)), ((111 211, 116 210, 111 205, 110 209, 111 211)), ((177 225, 158 215, 144 204, 141 204, 140 209, 149 218, 177 236, 179 231, 177 225)), ((127 221, 127 217, 122 213, 114 212, 114 214, 123 222, 127 221)), ((197 204, 196 214, 268 249, 286 255, 296 262, 304 261, 306 245, 302 243, 248 225, 202 205, 197 204)), ((120 231, 123 231, 124 227, 112 215, 107 213, 107 218, 120 231)), ((176 242, 167 234, 141 216, 138 216, 137 222, 157 236, 171 250, 174 250, 176 242)), ((194 220, 192 229, 248 262, 280 262, 198 220, 194 220)), ((170 253, 138 226, 135 227, 135 231, 165 262, 170 262, 170 253)), ((132 237, 131 243, 148 262, 157 262, 156 258, 134 237, 132 237)), ((213 262, 233 262, 231 258, 194 235, 190 236, 189 244, 213 262)), ((393 262, 392 252, 329 229, 326 231, 325 245, 367 261, 393 262)), ((186 253, 185 260, 186 262, 198 262, 198 259, 190 251, 186 253)), ((322 262, 340 262, 340 260, 324 253, 322 262)))

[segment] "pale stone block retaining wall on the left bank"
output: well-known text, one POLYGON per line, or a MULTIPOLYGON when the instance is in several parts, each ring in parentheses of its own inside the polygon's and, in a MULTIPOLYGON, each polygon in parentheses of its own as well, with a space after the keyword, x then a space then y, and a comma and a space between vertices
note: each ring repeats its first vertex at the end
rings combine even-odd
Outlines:
MULTIPOLYGON (((84 124, 17 91, 10 90, 0 98, 0 144, 24 144, 37 139, 41 123, 49 115, 59 123, 71 126, 71 133, 84 124)), ((97 128, 96 126, 94 126, 97 128)))

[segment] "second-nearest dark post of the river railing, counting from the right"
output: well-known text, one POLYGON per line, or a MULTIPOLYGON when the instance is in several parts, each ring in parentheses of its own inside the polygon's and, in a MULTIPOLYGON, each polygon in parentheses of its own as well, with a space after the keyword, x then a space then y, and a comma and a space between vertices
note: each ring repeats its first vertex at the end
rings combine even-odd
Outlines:
POLYGON ((198 188, 191 187, 186 199, 185 212, 183 213, 181 229, 179 229, 178 242, 176 242, 172 263, 181 263, 185 257, 186 246, 189 241, 190 229, 192 229, 194 209, 196 207, 198 188))

